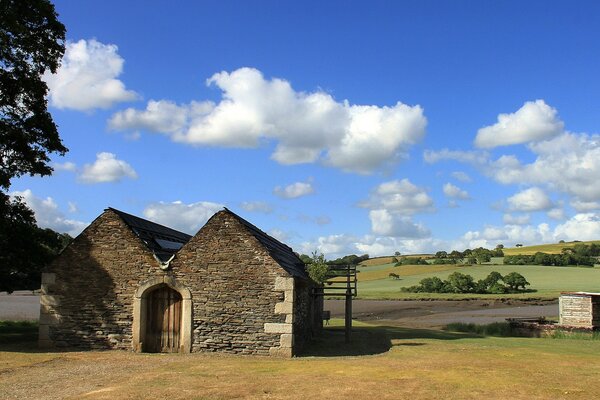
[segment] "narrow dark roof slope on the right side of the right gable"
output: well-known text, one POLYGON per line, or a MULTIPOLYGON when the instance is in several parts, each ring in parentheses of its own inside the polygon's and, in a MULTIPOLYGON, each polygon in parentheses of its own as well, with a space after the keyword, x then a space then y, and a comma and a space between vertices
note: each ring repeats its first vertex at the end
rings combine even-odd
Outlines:
POLYGON ((271 257, 290 275, 308 279, 306 273, 306 267, 302 260, 294 253, 291 247, 281 243, 279 240, 267 235, 265 232, 246 221, 236 213, 225 208, 225 212, 228 212, 238 221, 242 223, 248 229, 248 232, 252 234, 269 252, 271 257))

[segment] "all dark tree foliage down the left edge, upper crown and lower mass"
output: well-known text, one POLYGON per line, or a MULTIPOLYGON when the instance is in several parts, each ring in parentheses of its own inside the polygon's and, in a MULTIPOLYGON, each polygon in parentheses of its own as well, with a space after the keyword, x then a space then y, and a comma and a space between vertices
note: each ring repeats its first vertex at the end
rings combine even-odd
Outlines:
POLYGON ((50 154, 67 151, 42 80, 57 71, 64 42, 48 0, 0 0, 0 291, 38 288, 41 268, 66 238, 38 228, 22 200, 5 193, 12 178, 49 175, 50 154))

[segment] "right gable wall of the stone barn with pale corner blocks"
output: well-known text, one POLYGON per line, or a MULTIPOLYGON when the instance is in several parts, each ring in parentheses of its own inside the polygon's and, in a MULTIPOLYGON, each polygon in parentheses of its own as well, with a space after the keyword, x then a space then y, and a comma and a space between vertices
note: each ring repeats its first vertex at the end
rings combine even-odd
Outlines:
POLYGON ((282 307, 293 278, 230 213, 211 218, 171 265, 192 292, 194 351, 268 355, 292 334, 282 307))

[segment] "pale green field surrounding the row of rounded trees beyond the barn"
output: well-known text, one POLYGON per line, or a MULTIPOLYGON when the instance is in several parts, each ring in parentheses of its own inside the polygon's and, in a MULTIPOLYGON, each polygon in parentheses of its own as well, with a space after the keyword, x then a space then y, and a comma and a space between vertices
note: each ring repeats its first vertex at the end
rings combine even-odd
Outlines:
POLYGON ((588 291, 600 292, 600 268, 547 267, 539 265, 404 265, 382 264, 373 267, 359 267, 358 296, 363 299, 460 299, 460 298, 557 298, 560 292, 588 291), (476 280, 485 278, 490 272, 502 275, 518 272, 529 283, 533 293, 479 295, 447 293, 403 293, 400 288, 413 286, 421 279, 438 276, 446 279, 454 271, 473 276, 476 280), (400 279, 389 278, 390 273, 400 279))

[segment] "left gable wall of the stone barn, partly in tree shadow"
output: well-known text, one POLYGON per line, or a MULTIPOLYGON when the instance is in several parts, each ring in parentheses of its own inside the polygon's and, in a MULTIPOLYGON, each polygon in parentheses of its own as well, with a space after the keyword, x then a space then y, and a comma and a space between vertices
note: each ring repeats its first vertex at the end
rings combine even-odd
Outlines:
POLYGON ((130 349, 134 292, 156 275, 151 252, 103 213, 42 275, 40 345, 130 349))

